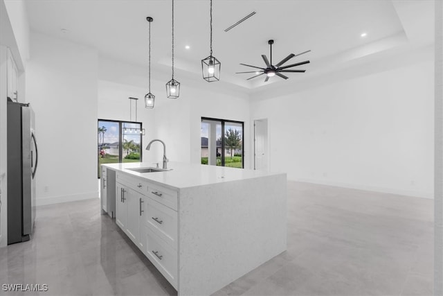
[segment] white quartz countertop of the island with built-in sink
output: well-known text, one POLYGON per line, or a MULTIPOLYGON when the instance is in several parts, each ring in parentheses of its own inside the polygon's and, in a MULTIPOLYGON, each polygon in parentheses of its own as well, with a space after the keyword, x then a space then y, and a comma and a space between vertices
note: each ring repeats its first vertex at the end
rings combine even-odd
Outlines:
MULTIPOLYGON (((160 164, 161 165, 161 164, 160 164)), ((188 164, 184 162, 168 162, 168 170, 154 173, 138 173, 127 168, 152 168, 152 164, 143 162, 129 162, 123 164, 103 164, 115 171, 122 171, 129 175, 142 177, 146 180, 164 184, 175 189, 217 184, 238 180, 281 175, 269 171, 255 171, 243 168, 229 168, 226 166, 208 166, 204 164, 188 164)))

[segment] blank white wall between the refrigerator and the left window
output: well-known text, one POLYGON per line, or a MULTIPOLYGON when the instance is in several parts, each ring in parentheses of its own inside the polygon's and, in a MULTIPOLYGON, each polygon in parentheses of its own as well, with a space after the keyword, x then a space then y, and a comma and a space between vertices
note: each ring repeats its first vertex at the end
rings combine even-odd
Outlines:
POLYGON ((98 197, 97 52, 32 33, 26 97, 39 145, 37 205, 98 197))

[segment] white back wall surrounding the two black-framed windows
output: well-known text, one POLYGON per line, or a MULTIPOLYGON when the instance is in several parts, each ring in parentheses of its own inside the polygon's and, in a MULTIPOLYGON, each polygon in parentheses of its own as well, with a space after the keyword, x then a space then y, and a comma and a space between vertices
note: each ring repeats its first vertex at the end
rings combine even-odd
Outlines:
MULTIPOLYGON (((166 98, 165 83, 171 79, 168 73, 152 71, 151 92, 156 96, 153 110, 145 109, 143 98, 147 93, 147 69, 145 65, 132 65, 99 59, 98 114, 103 119, 129 119, 127 97, 139 98, 138 118, 143 121, 147 134, 143 146, 152 139, 165 141, 167 156, 171 161, 201 162, 201 117, 213 117, 244 121, 245 168, 250 167, 248 134, 249 101, 245 94, 226 89, 222 82, 208 83, 200 73, 190 76, 177 71, 181 82, 180 97, 166 98), (192 86, 193 85, 193 86, 192 86)), ((143 151, 143 162, 161 162, 163 147, 154 143, 152 150, 143 151)))

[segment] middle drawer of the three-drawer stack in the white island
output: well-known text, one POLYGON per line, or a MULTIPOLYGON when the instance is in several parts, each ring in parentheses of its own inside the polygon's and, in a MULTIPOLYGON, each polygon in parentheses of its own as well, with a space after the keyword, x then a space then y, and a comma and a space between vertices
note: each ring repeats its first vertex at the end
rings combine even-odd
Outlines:
POLYGON ((177 250, 177 211, 165 207, 152 198, 147 200, 147 215, 145 215, 145 224, 152 231, 163 238, 171 247, 177 250))

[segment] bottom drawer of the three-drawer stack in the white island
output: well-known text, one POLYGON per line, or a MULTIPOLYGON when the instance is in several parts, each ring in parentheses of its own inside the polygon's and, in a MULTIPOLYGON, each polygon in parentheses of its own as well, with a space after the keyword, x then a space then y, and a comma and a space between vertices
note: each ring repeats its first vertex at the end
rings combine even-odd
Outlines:
POLYGON ((177 289, 177 250, 172 249, 170 245, 165 243, 159 236, 157 236, 149 227, 143 225, 145 228, 144 235, 146 243, 143 253, 161 272, 161 274, 168 279, 170 284, 177 289))

